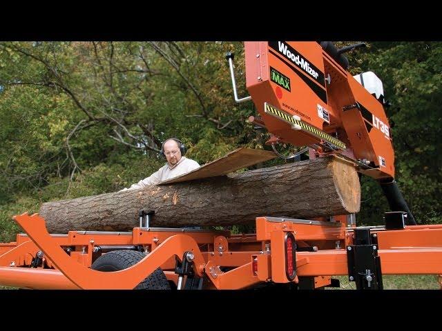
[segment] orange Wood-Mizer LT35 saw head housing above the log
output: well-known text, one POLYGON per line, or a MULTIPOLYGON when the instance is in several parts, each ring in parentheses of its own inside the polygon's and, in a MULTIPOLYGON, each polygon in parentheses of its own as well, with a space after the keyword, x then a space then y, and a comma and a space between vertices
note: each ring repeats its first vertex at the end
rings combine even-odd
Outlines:
POLYGON ((320 146, 363 161, 370 166, 359 171, 376 179, 394 177, 390 125, 376 99, 379 85, 374 95, 363 86, 364 77, 381 83, 374 74, 356 80, 315 41, 244 46, 247 90, 269 132, 294 146, 320 146))

